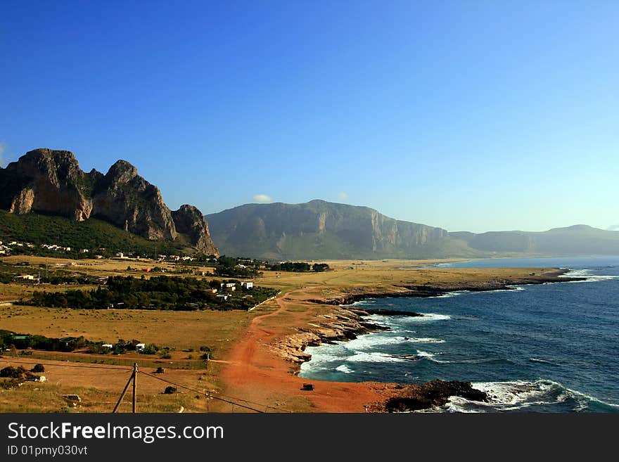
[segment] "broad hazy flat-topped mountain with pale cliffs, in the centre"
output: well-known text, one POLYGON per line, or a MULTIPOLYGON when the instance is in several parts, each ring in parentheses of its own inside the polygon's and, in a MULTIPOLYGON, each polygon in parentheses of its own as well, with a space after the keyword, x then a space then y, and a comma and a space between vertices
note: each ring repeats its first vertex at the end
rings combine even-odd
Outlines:
POLYGON ((369 207, 312 200, 248 204, 206 217, 226 255, 279 259, 423 257, 447 231, 369 207))

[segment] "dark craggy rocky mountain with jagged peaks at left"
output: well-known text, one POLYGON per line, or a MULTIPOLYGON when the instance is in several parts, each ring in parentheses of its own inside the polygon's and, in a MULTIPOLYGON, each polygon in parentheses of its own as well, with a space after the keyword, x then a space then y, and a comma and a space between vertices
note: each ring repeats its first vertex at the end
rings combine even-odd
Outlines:
POLYGON ((200 211, 182 205, 172 212, 159 188, 125 160, 115 162, 106 174, 95 169, 86 173, 68 150, 31 150, 0 168, 0 209, 77 222, 102 219, 148 240, 186 239, 197 251, 217 255, 200 211))

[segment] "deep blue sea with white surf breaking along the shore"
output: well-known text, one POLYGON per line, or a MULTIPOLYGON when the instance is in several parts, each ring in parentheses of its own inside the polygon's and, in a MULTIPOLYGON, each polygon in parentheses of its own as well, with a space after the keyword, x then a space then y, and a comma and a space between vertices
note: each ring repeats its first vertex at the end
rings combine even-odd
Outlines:
POLYGON ((433 411, 619 412, 619 257, 492 259, 441 267, 561 267, 586 281, 369 299, 359 308, 390 327, 350 342, 308 347, 300 376, 423 383, 466 380, 488 403, 454 397, 433 411))

